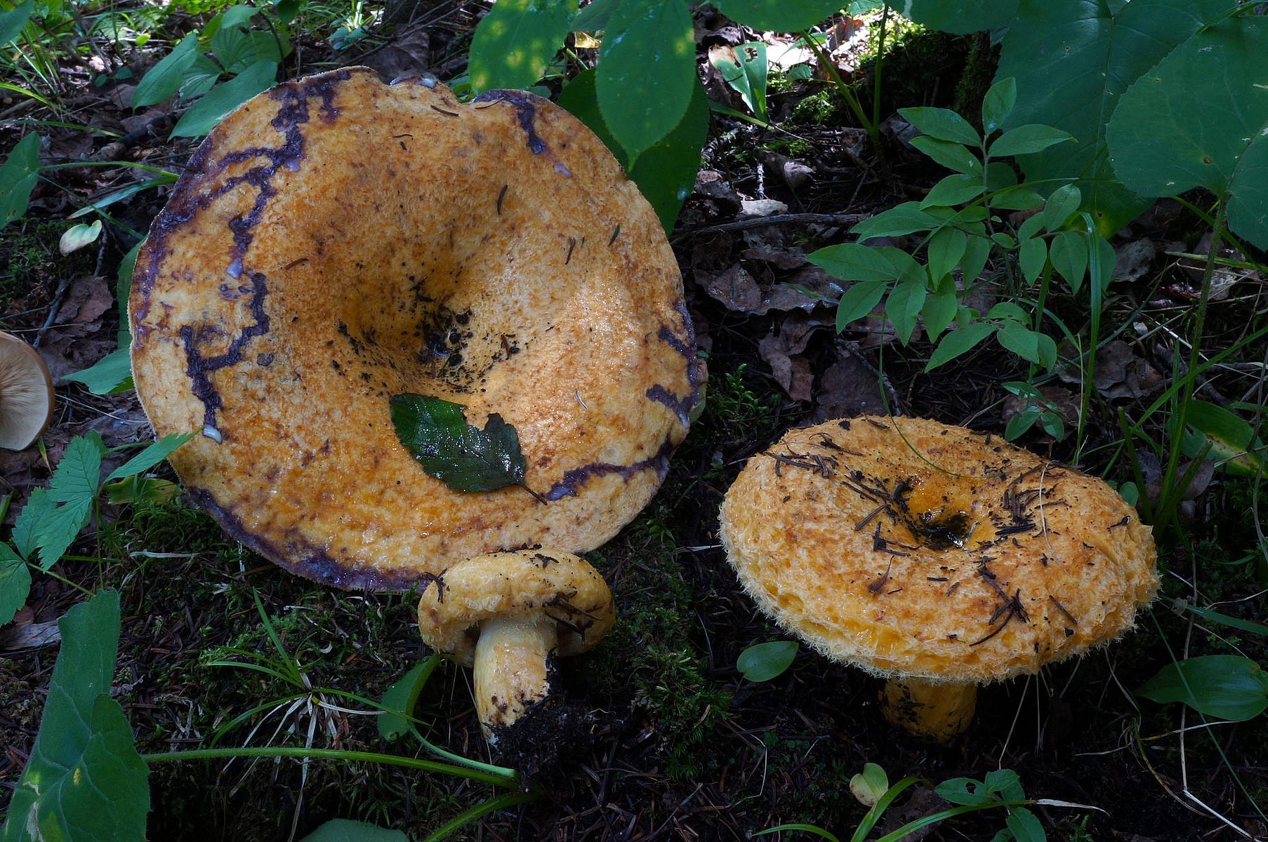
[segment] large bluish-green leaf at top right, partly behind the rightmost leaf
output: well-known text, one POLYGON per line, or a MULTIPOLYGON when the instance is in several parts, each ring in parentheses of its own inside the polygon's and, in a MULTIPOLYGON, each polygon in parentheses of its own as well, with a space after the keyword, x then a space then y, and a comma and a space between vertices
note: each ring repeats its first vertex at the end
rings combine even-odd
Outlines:
POLYGON ((1132 81, 1227 5, 1227 0, 1132 0, 1126 5, 1022 0, 1018 20, 1002 42, 995 74, 1017 80, 1017 103, 1006 126, 1041 123, 1077 139, 1023 156, 1019 164, 1026 176, 1078 176, 1084 207, 1103 235, 1139 216, 1149 203, 1116 183, 1106 152, 1107 117, 1132 81))

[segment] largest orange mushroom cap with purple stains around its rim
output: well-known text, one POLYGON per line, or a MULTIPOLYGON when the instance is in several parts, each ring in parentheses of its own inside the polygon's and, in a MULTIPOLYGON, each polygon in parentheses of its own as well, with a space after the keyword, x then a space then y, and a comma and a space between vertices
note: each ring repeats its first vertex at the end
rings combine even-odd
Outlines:
POLYGON ((482 553, 585 552, 652 497, 699 399, 661 223, 550 101, 459 104, 364 67, 279 85, 190 161, 137 259, 133 375, 231 534, 340 587, 482 553), (451 491, 389 398, 500 415, 524 488, 451 491))

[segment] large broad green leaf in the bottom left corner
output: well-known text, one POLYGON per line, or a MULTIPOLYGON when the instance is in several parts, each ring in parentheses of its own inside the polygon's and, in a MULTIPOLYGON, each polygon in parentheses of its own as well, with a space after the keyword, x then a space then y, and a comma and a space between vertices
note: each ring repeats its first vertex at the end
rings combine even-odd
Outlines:
POLYGON ((62 647, 0 841, 141 839, 148 770, 133 748, 123 709, 109 695, 119 647, 118 592, 96 593, 57 625, 62 647))

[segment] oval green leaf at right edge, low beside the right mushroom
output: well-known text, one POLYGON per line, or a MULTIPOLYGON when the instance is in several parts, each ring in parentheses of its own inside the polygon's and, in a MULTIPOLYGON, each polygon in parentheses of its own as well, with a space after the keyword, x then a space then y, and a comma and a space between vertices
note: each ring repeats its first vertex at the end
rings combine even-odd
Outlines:
POLYGON ((1243 722, 1268 708, 1268 673, 1249 658, 1208 654, 1167 664, 1136 695, 1159 704, 1182 701, 1207 716, 1243 722))

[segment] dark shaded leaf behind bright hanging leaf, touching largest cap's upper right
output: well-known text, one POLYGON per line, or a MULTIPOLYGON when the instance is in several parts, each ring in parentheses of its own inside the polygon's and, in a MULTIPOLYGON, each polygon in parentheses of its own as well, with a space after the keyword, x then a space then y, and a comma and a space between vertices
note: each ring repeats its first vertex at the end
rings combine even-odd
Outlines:
MULTIPOLYGON (((588 6, 587 6, 588 8, 588 6)), ((687 113, 673 129, 638 156, 629 169, 625 150, 612 139, 595 98, 595 71, 577 75, 559 94, 559 105, 579 119, 598 136, 616 157, 634 184, 661 218, 664 232, 673 230, 678 210, 696 183, 700 170, 700 150, 709 134, 709 98, 704 87, 691 91, 687 113)))

